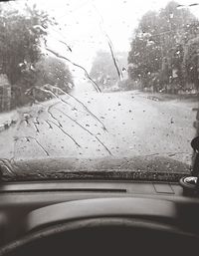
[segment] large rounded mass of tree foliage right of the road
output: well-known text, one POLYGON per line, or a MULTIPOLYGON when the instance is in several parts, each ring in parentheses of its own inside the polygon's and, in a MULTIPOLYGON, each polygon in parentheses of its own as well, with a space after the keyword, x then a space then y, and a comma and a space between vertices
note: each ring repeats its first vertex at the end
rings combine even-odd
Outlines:
POLYGON ((199 22, 188 9, 170 2, 147 12, 139 22, 128 54, 128 74, 142 87, 174 93, 188 83, 198 87, 199 22))

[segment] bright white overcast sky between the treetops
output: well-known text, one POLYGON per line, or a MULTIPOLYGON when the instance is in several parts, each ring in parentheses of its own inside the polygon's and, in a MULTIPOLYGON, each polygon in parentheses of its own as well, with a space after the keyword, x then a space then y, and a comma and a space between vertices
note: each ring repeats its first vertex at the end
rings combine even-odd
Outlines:
MULTIPOLYGON (((106 35, 111 41, 114 52, 128 52, 133 30, 142 15, 149 10, 158 11, 169 1, 29 0, 28 2, 36 2, 39 8, 46 10, 59 23, 50 30, 48 46, 90 71, 97 52, 109 51, 106 35), (72 52, 60 41, 69 45, 72 52)), ((197 0, 177 2, 187 6, 193 2, 197 3, 197 0)), ((199 6, 190 10, 199 17, 199 6)))

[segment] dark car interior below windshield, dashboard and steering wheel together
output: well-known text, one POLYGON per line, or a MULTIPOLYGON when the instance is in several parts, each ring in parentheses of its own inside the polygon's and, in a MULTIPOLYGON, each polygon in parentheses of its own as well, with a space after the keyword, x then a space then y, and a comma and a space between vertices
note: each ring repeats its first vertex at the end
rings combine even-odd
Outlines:
POLYGON ((1 183, 1 255, 185 255, 199 200, 174 182, 1 183))

